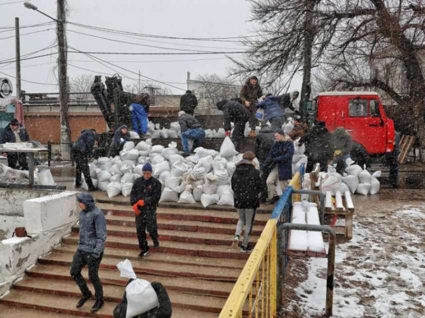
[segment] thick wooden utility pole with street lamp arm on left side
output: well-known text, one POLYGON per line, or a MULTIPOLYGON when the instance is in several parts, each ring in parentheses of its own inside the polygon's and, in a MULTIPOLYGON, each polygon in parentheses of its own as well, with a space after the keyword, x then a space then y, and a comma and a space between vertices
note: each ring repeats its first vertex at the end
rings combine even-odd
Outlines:
POLYGON ((70 160, 70 129, 68 123, 68 85, 66 75, 66 39, 65 39, 66 0, 57 0, 57 68, 59 77, 60 100, 60 145, 62 160, 70 160))

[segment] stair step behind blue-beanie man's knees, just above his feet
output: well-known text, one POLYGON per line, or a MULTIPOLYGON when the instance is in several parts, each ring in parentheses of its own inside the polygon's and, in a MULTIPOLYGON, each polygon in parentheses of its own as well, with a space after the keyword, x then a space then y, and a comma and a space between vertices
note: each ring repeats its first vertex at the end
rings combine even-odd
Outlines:
MULTIPOLYGON (((134 215, 106 215, 106 222, 110 225, 127 225, 135 227, 134 215)), ((235 225, 225 223, 211 223, 202 221, 189 221, 178 219, 158 219, 158 229, 181 230, 181 231, 194 231, 202 233, 222 233, 234 234, 235 225)), ((252 228, 252 235, 261 235, 263 226, 254 225, 252 228)))

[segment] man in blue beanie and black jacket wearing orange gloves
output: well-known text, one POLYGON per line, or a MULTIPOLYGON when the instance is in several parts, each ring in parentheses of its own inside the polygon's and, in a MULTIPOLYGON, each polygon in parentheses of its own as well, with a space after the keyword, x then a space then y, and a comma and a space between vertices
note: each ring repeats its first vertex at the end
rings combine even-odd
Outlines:
POLYGON ((156 225, 156 206, 161 197, 161 182, 152 176, 152 166, 149 162, 141 168, 143 176, 134 181, 130 193, 130 203, 136 214, 136 231, 140 257, 149 255, 146 240, 146 229, 153 241, 153 246, 159 246, 158 228, 156 225))

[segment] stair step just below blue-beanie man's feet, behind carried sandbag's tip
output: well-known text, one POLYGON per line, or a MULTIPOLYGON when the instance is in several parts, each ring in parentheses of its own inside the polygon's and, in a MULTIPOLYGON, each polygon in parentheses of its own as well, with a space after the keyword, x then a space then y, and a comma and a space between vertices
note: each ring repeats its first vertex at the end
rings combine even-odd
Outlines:
MULTIPOLYGON (((38 262, 40 264, 46 265, 51 264, 70 267, 72 263, 72 255, 64 253, 50 253, 44 257, 39 257, 38 262)), ((117 262, 118 261, 116 258, 103 257, 100 263, 100 268, 115 270, 117 262)), ((175 266, 166 263, 149 262, 143 259, 132 260, 131 264, 133 266, 134 272, 138 275, 150 274, 158 276, 191 277, 235 282, 240 273, 240 270, 238 269, 224 269, 201 265, 175 266)))

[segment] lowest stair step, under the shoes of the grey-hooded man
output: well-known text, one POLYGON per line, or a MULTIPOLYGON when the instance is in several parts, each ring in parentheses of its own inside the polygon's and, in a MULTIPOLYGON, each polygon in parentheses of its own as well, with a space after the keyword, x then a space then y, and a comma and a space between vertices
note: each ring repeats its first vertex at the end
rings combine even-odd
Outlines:
MULTIPOLYGON (((90 313, 91 302, 87 301, 85 305, 77 309, 75 307, 76 299, 73 297, 60 296, 60 295, 49 295, 45 293, 36 293, 31 291, 24 290, 10 290, 10 293, 0 299, 0 302, 3 304, 24 307, 30 309, 44 310, 51 313, 65 313, 68 315, 80 316, 80 317, 101 317, 101 318, 112 318, 113 308, 115 307, 115 302, 105 301, 103 308, 101 308, 96 313, 90 313)), ((202 317, 216 317, 214 313, 200 312, 189 310, 189 309, 180 309, 173 308, 172 317, 174 318, 186 318, 190 316, 202 316, 202 317)), ((57 315, 56 315, 57 316, 57 315)))

